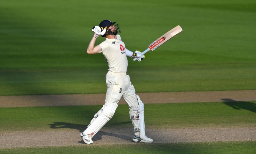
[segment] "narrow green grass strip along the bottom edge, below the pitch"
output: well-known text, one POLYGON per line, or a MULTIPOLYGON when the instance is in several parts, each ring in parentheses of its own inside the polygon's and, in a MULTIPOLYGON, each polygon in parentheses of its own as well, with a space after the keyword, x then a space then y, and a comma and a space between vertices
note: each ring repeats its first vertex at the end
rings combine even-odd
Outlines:
POLYGON ((68 146, 0 149, 1 153, 255 153, 255 141, 246 142, 203 142, 203 143, 160 143, 137 145, 68 146), (226 151, 226 152, 223 152, 226 151))

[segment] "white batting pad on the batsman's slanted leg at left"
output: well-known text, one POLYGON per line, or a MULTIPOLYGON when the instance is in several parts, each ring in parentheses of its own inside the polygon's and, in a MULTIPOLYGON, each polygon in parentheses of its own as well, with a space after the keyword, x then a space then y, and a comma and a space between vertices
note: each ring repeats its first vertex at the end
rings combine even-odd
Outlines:
POLYGON ((102 128, 108 121, 114 116, 116 112, 117 104, 111 104, 106 106, 101 114, 94 119, 93 123, 90 124, 87 129, 83 132, 84 135, 92 135, 92 137, 102 128))

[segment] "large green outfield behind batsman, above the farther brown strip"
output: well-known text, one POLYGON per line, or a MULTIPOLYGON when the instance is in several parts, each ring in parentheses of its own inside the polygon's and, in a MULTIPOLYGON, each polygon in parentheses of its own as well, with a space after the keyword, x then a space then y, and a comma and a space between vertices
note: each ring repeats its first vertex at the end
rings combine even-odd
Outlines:
POLYGON ((256 89, 255 6, 252 0, 2 0, 0 95, 105 93, 106 60, 85 53, 91 28, 103 19, 117 21, 132 51, 183 28, 142 62, 128 58, 137 92, 256 89))

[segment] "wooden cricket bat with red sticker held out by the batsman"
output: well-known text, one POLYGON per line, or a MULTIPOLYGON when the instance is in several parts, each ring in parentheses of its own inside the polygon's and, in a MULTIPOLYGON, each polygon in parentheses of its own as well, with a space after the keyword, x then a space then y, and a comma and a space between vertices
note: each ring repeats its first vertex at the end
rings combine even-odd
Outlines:
MULTIPOLYGON (((154 51, 156 48, 158 48, 160 45, 164 44, 164 42, 168 41, 171 39, 173 36, 179 34, 182 31, 182 28, 178 25, 174 28, 172 28, 170 31, 165 33, 163 36, 159 37, 156 41, 152 42, 151 44, 148 45, 148 49, 143 51, 141 55, 144 55, 147 53, 149 50, 154 51)), ((134 61, 136 58, 133 59, 134 61)))

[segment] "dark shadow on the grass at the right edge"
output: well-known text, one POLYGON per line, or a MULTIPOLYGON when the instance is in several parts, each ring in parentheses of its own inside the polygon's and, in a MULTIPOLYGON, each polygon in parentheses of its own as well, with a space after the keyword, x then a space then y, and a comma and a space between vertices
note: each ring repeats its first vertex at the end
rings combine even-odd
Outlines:
POLYGON ((244 109, 244 110, 248 110, 248 111, 256 113, 256 104, 254 104, 252 102, 235 101, 230 98, 223 98, 221 100, 224 101, 223 102, 224 104, 232 107, 233 109, 236 109, 236 110, 244 109))

